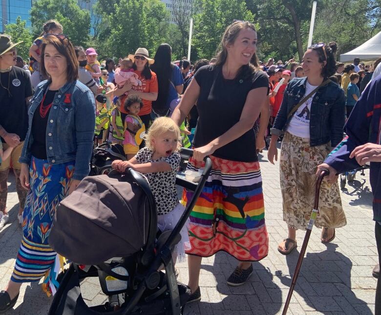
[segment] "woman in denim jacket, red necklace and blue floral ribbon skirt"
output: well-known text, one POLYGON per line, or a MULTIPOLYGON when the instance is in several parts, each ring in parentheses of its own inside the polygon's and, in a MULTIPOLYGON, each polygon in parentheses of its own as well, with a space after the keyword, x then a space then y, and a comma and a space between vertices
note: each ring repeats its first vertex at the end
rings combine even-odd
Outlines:
POLYGON ((45 290, 54 293, 50 274, 56 252, 48 237, 55 211, 90 171, 95 102, 78 78, 73 45, 63 34, 47 34, 41 45, 41 82, 28 111, 29 128, 22 149, 21 185, 30 189, 23 212, 23 237, 11 279, 0 292, 0 313, 11 309, 25 282, 46 276, 45 290))

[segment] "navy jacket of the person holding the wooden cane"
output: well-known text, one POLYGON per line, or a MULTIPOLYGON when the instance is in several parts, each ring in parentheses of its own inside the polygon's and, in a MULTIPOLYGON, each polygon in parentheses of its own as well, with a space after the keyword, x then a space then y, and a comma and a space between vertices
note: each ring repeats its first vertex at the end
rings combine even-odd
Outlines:
MULTIPOLYGON (((381 75, 373 78, 362 92, 347 123, 345 137, 325 159, 339 173, 359 168, 350 153, 359 145, 381 144, 381 75)), ((381 222, 381 162, 370 163, 370 185, 373 191, 373 220, 381 222)))

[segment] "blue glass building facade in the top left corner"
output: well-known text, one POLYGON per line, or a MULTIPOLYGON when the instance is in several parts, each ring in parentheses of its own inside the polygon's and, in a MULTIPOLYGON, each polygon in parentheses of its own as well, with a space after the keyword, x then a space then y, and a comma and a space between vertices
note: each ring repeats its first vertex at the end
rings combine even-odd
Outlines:
POLYGON ((26 21, 26 26, 30 27, 29 11, 32 7, 32 0, 0 0, 0 32, 4 31, 5 24, 16 22, 17 17, 26 21))

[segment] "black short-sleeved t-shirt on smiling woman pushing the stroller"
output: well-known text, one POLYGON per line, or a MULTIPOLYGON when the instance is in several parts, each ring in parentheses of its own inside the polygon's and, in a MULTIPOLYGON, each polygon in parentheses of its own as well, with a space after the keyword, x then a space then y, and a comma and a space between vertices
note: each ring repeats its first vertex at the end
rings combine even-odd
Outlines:
MULTIPOLYGON (((221 66, 209 65, 198 69, 194 78, 200 86, 199 117, 193 142, 196 148, 223 135, 239 121, 250 90, 269 87, 269 78, 263 71, 246 71, 227 80, 221 66)), ((217 149, 213 156, 241 162, 257 161, 254 130, 217 149)))

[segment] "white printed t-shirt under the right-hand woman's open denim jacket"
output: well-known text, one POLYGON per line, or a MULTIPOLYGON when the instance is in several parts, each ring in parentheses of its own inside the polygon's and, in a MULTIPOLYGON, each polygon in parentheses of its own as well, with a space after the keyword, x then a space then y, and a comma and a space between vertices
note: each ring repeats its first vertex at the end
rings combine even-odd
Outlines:
MULTIPOLYGON (((306 92, 304 95, 310 94, 318 86, 314 86, 306 81, 306 92)), ((311 116, 311 104, 312 99, 316 93, 312 94, 311 97, 306 100, 302 105, 299 106, 295 114, 292 116, 290 123, 287 127, 287 131, 301 138, 310 137, 310 116, 311 116)))

